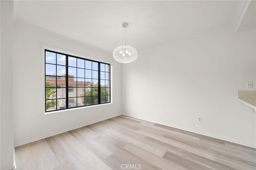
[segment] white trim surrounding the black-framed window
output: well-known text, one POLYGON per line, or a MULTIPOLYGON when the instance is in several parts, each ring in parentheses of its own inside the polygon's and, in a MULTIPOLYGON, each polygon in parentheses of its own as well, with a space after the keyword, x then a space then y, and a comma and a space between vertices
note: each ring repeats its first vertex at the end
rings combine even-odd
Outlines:
MULTIPOLYGON (((96 109, 96 108, 100 108, 100 107, 106 107, 109 105, 113 105, 113 101, 114 101, 114 97, 113 97, 113 80, 112 80, 112 70, 113 70, 113 63, 110 61, 104 61, 101 58, 98 57, 88 57, 87 55, 80 55, 78 53, 74 53, 71 51, 68 51, 66 49, 62 49, 62 48, 58 48, 58 47, 53 47, 50 45, 46 45, 46 44, 41 44, 41 81, 42 81, 42 112, 40 113, 40 115, 59 115, 59 114, 66 114, 66 113, 74 113, 77 111, 86 111, 86 110, 90 110, 90 109, 96 109), (95 104, 95 105, 87 105, 87 106, 80 106, 80 107, 74 107, 74 108, 70 108, 70 109, 63 109, 63 110, 55 110, 55 111, 48 111, 46 112, 45 109, 45 50, 49 50, 49 51, 54 51, 57 53, 64 53, 66 55, 69 56, 74 56, 77 58, 81 58, 81 59, 86 59, 86 60, 90 60, 90 61, 96 61, 96 62, 100 62, 100 63, 105 63, 105 64, 110 64, 110 102, 109 103, 102 103, 102 104, 95 104)), ((100 72, 100 68, 99 68, 99 72, 100 72)))

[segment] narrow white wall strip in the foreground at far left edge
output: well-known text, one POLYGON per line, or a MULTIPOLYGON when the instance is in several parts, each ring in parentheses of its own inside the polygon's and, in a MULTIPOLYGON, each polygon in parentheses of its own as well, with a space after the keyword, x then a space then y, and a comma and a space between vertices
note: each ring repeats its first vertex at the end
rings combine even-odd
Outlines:
POLYGON ((13 1, 0 1, 1 4, 1 58, 0 58, 0 129, 1 129, 1 170, 14 168, 13 143, 13 1))

